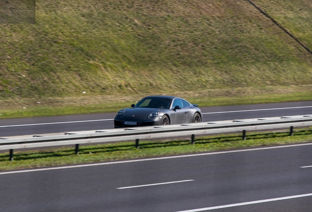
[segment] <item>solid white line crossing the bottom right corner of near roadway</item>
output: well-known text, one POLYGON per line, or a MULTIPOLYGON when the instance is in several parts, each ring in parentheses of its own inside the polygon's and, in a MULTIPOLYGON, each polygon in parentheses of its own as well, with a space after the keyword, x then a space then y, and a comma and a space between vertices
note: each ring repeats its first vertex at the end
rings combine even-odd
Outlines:
POLYGON ((306 197, 306 196, 312 196, 312 193, 309 193, 309 194, 301 194, 301 195, 294 195, 294 196, 287 196, 287 197, 279 197, 279 198, 266 199, 266 200, 251 201, 251 202, 244 202, 244 203, 236 203, 236 204, 223 205, 223 206, 215 206, 215 207, 209 207, 209 208, 201 208, 201 209, 193 209, 193 210, 179 211, 179 212, 200 212, 200 211, 209 211, 209 210, 214 210, 214 209, 231 208, 231 207, 235 207, 235 206, 251 205, 251 204, 257 204, 257 203, 272 202, 272 201, 293 199, 293 198, 306 197))

